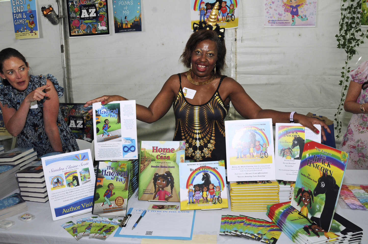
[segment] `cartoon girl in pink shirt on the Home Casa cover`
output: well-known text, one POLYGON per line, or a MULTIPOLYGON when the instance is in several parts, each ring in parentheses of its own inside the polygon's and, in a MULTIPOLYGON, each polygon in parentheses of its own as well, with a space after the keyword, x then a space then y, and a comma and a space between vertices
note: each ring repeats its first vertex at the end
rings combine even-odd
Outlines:
POLYGON ((170 171, 166 171, 162 175, 155 173, 153 176, 153 186, 155 187, 155 193, 153 194, 152 200, 155 200, 156 197, 159 197, 159 201, 168 201, 168 199, 173 197, 174 177, 170 171), (171 194, 169 191, 164 190, 164 188, 169 185, 171 188, 171 194))

